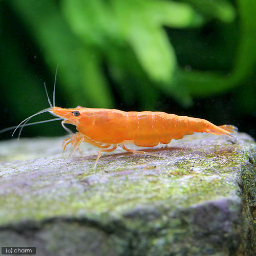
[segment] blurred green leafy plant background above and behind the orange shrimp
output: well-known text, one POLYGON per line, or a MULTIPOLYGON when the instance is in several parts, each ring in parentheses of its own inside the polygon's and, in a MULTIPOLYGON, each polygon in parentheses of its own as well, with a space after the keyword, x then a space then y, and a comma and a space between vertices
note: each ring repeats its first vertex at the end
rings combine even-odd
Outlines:
POLYGON ((57 63, 59 106, 189 108, 232 92, 256 116, 255 13, 255 0, 1 1, 1 128, 47 108, 57 63))

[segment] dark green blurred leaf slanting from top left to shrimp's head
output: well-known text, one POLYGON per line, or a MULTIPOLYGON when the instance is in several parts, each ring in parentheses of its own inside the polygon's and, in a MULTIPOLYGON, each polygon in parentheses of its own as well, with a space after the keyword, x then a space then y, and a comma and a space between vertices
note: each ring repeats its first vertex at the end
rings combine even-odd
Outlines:
POLYGON ((94 87, 94 84, 88 84, 87 80, 84 80, 84 70, 88 66, 80 59, 87 58, 85 46, 72 33, 53 2, 50 0, 44 2, 20 0, 10 3, 44 51, 45 61, 53 73, 59 63, 58 77, 61 80, 61 90, 69 95, 67 100, 69 105, 110 107, 112 105, 111 93, 110 91, 106 93, 108 87, 100 77, 97 85, 98 89, 102 86, 101 94, 104 100, 99 101, 98 96, 93 97, 81 93, 87 91, 83 90, 84 87, 94 87))

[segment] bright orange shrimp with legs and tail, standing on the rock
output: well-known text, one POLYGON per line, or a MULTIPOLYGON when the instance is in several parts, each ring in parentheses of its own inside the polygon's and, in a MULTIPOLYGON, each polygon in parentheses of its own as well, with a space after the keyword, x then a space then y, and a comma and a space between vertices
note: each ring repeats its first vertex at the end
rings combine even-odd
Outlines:
POLYGON ((229 136, 234 132, 232 125, 216 126, 205 119, 164 112, 124 112, 81 106, 75 109, 53 107, 51 112, 65 119, 64 123, 76 125, 78 133, 69 138, 70 141, 65 144, 64 150, 70 142, 75 146, 75 150, 82 141, 88 142, 100 148, 97 161, 101 151, 113 151, 117 145, 121 145, 129 152, 148 154, 128 150, 124 144, 134 143, 137 146, 153 147, 159 143, 168 144, 172 139, 181 139, 184 135, 194 132, 229 136), (110 146, 113 148, 104 149, 110 146))

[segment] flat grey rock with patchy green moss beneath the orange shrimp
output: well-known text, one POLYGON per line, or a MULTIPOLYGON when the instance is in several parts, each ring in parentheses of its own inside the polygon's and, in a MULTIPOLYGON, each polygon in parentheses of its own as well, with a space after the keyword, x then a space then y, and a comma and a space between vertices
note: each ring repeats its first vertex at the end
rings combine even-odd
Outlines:
POLYGON ((63 138, 3 141, 0 245, 37 255, 254 255, 256 144, 234 136, 187 136, 154 150, 164 157, 118 149, 96 169, 98 149, 85 143, 68 157, 63 138))

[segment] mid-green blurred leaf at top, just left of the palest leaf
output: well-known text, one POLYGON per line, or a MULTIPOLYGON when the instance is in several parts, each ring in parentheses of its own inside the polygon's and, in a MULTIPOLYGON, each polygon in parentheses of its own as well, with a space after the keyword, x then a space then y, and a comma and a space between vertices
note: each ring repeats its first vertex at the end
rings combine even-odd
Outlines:
POLYGON ((63 0, 62 10, 72 30, 86 45, 105 48, 121 39, 111 6, 101 0, 63 0))

